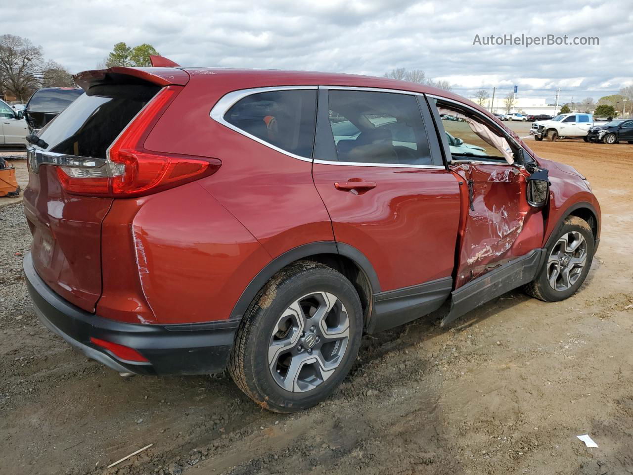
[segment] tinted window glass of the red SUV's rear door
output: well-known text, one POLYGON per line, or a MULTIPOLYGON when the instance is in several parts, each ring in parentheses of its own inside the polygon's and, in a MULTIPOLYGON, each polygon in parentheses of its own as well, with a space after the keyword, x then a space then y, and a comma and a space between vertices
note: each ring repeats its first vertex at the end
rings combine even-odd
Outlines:
POLYGON ((330 125, 340 162, 433 163, 415 96, 329 91, 330 125))

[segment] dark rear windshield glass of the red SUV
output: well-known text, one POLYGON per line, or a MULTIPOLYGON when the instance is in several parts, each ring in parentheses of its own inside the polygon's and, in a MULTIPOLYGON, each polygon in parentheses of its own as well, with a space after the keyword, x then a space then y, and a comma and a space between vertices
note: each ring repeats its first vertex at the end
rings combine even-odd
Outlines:
POLYGON ((48 151, 106 158, 108 147, 159 89, 153 85, 92 87, 49 122, 39 137, 48 151))

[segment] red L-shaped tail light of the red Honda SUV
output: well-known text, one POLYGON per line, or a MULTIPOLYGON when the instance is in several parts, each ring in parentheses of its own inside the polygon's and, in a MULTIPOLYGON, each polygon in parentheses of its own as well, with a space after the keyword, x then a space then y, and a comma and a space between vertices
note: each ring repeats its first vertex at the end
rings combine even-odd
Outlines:
POLYGON ((182 87, 161 89, 123 130, 108 149, 108 160, 98 168, 57 167, 62 186, 68 193, 89 196, 130 198, 214 174, 222 162, 143 148, 154 124, 182 87))

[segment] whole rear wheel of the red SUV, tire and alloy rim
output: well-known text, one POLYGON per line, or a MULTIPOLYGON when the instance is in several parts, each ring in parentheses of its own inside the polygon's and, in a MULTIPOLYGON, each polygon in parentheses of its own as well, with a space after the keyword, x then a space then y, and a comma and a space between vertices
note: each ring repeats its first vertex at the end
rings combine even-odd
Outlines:
POLYGON ((254 298, 229 362, 237 386, 274 412, 322 402, 356 360, 363 314, 356 289, 336 270, 299 261, 254 298))

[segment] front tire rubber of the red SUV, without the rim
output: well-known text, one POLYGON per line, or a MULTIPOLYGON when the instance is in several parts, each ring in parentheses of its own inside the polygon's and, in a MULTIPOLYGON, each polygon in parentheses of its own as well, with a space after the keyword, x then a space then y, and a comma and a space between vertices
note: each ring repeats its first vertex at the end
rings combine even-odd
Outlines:
POLYGON ((566 298, 572 296, 580 288, 582 282, 585 281, 585 278, 589 273, 589 269, 591 268, 591 262, 593 260, 595 250, 595 242, 591 227, 585 220, 580 219, 579 217, 568 216, 563 222, 563 225, 558 227, 558 229, 556 229, 553 233, 553 236, 556 236, 556 238, 551 239, 551 242, 547 246, 545 263, 541 271, 534 281, 523 286, 523 291, 527 293, 527 295, 545 302, 565 300, 566 298), (548 259, 561 236, 565 236, 570 232, 579 232, 585 239, 587 243, 586 263, 582 268, 582 272, 580 272, 580 276, 577 277, 577 280, 573 283, 573 285, 565 290, 555 290, 548 281, 548 259))

